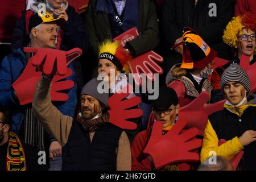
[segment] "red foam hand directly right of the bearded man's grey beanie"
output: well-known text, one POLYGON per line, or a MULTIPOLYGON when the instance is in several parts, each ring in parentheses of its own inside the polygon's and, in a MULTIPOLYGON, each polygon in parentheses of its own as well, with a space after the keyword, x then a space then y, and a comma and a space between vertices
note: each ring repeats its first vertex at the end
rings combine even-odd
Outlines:
POLYGON ((141 103, 140 97, 131 97, 127 100, 125 99, 131 92, 132 86, 125 86, 120 92, 115 93, 109 98, 108 105, 110 107, 109 112, 109 122, 113 125, 120 127, 121 129, 134 130, 137 128, 137 124, 134 122, 127 121, 129 118, 141 117, 143 111, 141 109, 129 109, 131 107, 137 106, 141 103))

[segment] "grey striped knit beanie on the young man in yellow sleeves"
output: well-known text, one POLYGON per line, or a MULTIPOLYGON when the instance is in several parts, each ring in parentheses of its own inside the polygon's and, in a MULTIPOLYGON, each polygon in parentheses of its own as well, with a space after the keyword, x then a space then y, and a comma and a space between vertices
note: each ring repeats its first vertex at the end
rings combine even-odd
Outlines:
POLYGON ((251 82, 250 78, 240 65, 234 63, 222 73, 221 75, 221 91, 223 92, 224 85, 227 82, 236 81, 245 87, 247 92, 250 92, 251 82))

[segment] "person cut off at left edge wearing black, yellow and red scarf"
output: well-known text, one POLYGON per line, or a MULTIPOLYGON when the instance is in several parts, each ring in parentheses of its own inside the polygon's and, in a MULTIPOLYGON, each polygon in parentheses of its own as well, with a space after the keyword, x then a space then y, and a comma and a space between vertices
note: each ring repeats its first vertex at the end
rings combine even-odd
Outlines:
POLYGON ((29 144, 22 143, 10 131, 11 116, 0 107, 0 171, 26 171, 44 169, 38 163, 38 151, 29 144), (13 151, 10 153, 9 151, 13 151))

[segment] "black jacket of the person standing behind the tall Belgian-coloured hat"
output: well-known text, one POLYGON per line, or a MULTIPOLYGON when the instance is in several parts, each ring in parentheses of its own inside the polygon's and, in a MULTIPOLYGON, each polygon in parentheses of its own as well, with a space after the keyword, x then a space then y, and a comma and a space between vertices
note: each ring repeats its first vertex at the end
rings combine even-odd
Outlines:
MULTIPOLYGON (((213 4, 212 4, 213 5, 213 4)), ((223 31, 234 15, 233 0, 168 0, 162 8, 164 39, 167 48, 174 45, 175 40, 183 35, 184 27, 191 27, 213 49, 218 56, 227 58, 228 46, 222 41, 223 31), (210 16, 213 10, 211 3, 216 5, 216 16, 210 16)))

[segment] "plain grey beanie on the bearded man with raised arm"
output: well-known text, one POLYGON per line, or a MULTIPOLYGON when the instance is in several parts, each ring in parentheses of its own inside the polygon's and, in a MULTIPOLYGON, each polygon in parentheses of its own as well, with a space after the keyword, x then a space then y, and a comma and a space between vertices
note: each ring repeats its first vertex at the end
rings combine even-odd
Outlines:
POLYGON ((88 94, 98 101, 102 102, 105 105, 108 105, 109 94, 108 93, 99 93, 97 88, 98 84, 100 84, 101 80, 97 80, 97 78, 93 78, 90 80, 84 87, 82 88, 81 95, 88 94))

